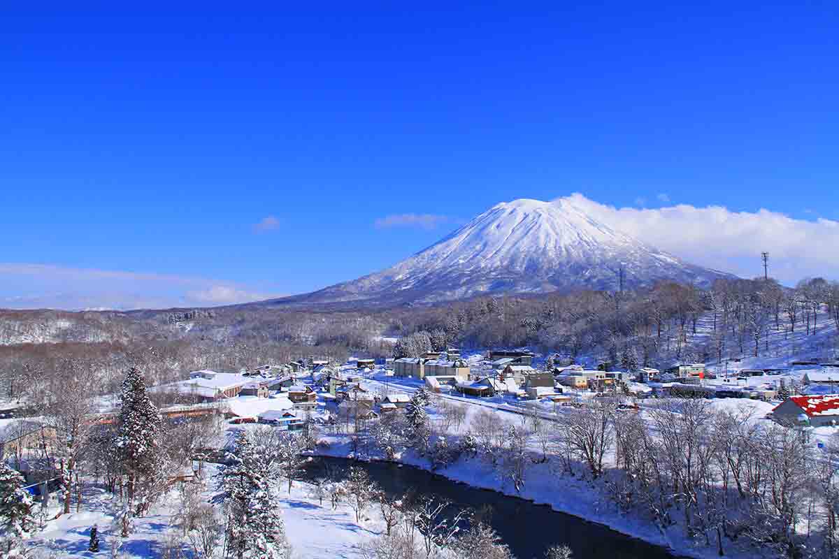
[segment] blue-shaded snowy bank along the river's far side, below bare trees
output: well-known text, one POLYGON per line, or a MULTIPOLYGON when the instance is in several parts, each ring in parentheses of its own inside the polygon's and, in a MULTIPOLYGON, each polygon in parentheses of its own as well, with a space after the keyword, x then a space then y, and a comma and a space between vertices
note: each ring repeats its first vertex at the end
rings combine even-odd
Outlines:
MULTIPOLYGON (((352 447, 347 436, 325 437, 330 443, 328 448, 318 448, 313 455, 331 458, 353 458, 352 447)), ((617 505, 606 499, 601 487, 595 487, 591 480, 572 478, 565 474, 555 474, 550 464, 532 464, 524 487, 517 492, 512 484, 498 478, 497 468, 484 463, 479 458, 460 458, 445 468, 433 469, 430 463, 412 452, 399 455, 395 461, 388 461, 381 455, 372 454, 364 461, 399 463, 425 472, 439 475, 456 483, 466 484, 477 489, 488 489, 507 497, 524 499, 534 505, 547 505, 550 509, 566 515, 576 516, 587 522, 619 532, 654 546, 664 548, 675 556, 694 559, 719 557, 716 546, 697 546, 685 536, 681 525, 673 525, 669 530, 661 531, 652 523, 633 515, 624 514, 617 505)), ((730 545, 730 544, 729 544, 730 545)), ((736 559, 753 559, 761 556, 759 551, 750 549, 726 549, 726 556, 736 559)))

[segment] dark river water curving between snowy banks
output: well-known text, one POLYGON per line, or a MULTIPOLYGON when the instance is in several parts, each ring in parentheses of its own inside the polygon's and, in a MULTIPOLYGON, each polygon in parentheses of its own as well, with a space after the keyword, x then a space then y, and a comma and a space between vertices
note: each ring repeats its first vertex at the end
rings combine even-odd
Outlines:
POLYGON ((574 551, 574 559, 674 559, 663 547, 653 546, 593 524, 552 510, 547 505, 508 497, 495 491, 458 484, 420 468, 395 463, 356 463, 344 458, 314 458, 307 468, 310 479, 336 477, 342 479, 351 465, 361 466, 388 494, 398 497, 409 489, 450 500, 455 508, 488 510, 484 516, 510 546, 517 559, 542 559, 555 544, 564 544, 574 551))

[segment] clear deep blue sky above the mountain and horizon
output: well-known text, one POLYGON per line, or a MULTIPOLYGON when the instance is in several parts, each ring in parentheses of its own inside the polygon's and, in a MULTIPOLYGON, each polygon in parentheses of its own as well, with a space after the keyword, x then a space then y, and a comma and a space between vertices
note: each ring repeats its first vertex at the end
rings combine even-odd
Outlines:
POLYGON ((575 192, 832 222, 839 8, 800 4, 2 8, 0 306, 305 292, 575 192))

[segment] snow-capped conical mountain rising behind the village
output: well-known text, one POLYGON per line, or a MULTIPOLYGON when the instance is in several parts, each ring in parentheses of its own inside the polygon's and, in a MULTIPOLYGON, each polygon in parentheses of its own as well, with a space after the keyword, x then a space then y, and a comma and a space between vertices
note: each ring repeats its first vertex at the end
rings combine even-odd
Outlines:
POLYGON ((492 292, 616 289, 662 280, 707 285, 728 274, 694 266, 599 223, 571 199, 498 204, 393 267, 299 301, 431 303, 492 292))

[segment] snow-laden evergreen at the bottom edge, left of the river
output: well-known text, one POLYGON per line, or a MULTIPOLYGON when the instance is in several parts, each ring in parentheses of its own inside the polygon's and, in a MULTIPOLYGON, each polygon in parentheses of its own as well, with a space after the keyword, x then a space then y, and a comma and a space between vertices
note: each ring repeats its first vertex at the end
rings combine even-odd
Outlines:
POLYGON ((222 473, 227 553, 237 559, 286 559, 285 525, 274 502, 276 471, 248 439, 248 432, 239 434, 233 464, 222 473))

